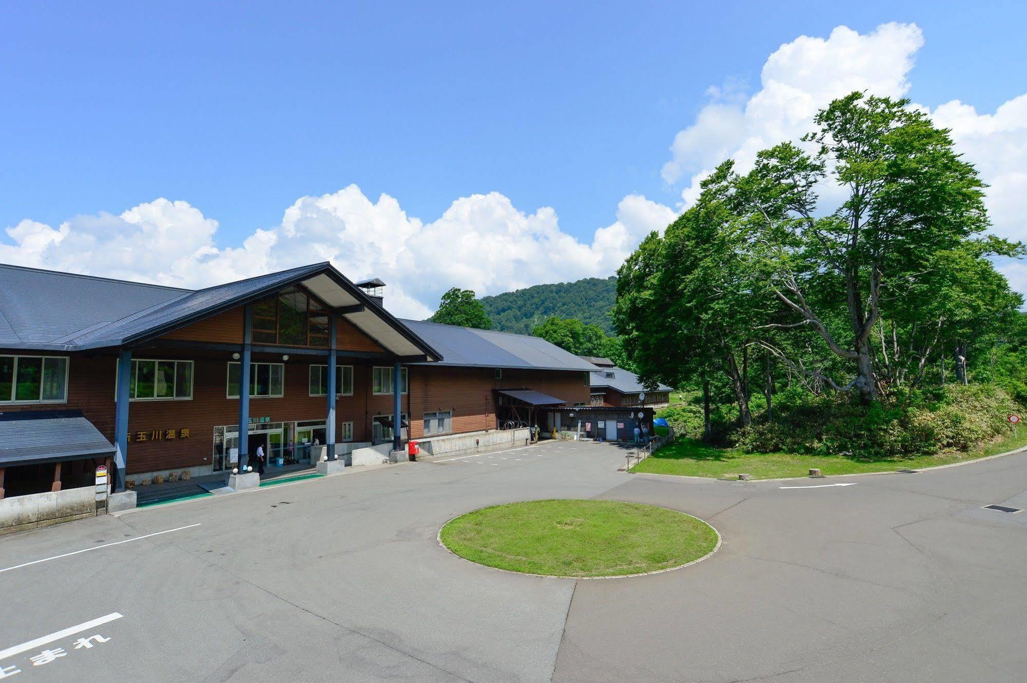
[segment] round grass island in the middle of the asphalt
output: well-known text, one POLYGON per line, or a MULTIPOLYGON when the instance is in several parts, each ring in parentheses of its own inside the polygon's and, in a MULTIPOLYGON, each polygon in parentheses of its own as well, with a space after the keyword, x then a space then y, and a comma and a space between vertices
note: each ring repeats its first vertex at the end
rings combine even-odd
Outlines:
POLYGON ((454 555, 507 571, 573 578, 676 569, 713 553, 720 535, 684 513, 616 500, 532 500, 447 522, 454 555))

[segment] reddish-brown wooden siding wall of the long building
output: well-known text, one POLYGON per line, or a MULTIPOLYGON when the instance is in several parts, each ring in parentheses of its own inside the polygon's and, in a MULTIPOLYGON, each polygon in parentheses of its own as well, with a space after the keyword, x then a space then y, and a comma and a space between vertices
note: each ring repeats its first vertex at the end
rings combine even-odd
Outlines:
MULTIPOLYGON (((238 421, 238 400, 226 396, 227 354, 225 357, 202 358, 191 356, 185 349, 166 349, 137 351, 134 357, 192 359, 195 366, 192 400, 134 401, 129 404, 128 430, 132 439, 128 445, 127 472, 210 465, 214 427, 238 421), (149 440, 153 431, 167 429, 177 432, 189 429, 189 438, 149 440), (140 431, 147 433, 148 441, 136 440, 140 431)), ((261 357, 255 355, 254 359, 275 362, 278 358, 280 356, 265 354, 261 357)), ((324 419, 328 412, 327 399, 309 395, 311 363, 324 365, 325 361, 308 362, 294 356, 286 363, 284 395, 279 399, 252 397, 251 417, 268 417, 271 422, 324 419)), ((353 395, 340 396, 337 401, 337 424, 352 422, 353 441, 371 441, 373 418, 391 414, 392 396, 373 395, 374 362, 340 365, 353 365, 353 395)), ((113 442, 115 367, 113 355, 72 355, 67 403, 0 406, 0 411, 81 410, 113 442)), ((453 411, 454 432, 495 428, 493 389, 497 388, 535 389, 562 399, 570 406, 587 403, 589 397, 589 388, 580 372, 504 370, 502 379, 497 380, 492 369, 411 366, 408 378, 410 392, 403 396, 403 409, 410 418, 412 439, 419 439, 424 433, 424 413, 439 410, 453 411)))

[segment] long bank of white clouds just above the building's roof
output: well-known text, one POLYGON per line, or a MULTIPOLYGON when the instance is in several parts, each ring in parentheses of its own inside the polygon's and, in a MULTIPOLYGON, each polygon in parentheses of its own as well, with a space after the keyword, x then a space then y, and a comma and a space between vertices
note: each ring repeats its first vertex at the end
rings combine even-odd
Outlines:
POLYGON ((610 275, 675 213, 632 194, 616 218, 585 242, 561 230, 553 208, 528 214, 498 192, 461 197, 424 222, 394 197, 374 201, 350 185, 297 199, 278 225, 226 248, 218 245, 216 220, 186 201, 159 198, 117 216, 77 216, 58 228, 22 221, 6 230, 0 261, 187 288, 331 261, 351 279, 384 279, 392 312, 426 317, 451 287, 484 296, 610 275))

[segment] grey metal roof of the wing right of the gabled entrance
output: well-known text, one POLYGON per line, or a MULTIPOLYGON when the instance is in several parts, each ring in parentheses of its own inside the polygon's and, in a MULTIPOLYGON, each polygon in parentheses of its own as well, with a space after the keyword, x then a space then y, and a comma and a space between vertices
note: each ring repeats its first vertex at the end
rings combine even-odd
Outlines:
POLYGON ((403 322, 443 354, 443 361, 433 365, 584 372, 596 369, 541 337, 419 320, 403 322))

